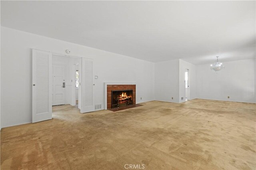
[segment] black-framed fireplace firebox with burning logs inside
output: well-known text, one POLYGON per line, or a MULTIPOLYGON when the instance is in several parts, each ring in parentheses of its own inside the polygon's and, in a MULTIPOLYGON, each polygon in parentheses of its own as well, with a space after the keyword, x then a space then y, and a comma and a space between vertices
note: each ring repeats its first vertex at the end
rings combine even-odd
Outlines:
POLYGON ((112 109, 133 105, 133 90, 112 90, 112 109))

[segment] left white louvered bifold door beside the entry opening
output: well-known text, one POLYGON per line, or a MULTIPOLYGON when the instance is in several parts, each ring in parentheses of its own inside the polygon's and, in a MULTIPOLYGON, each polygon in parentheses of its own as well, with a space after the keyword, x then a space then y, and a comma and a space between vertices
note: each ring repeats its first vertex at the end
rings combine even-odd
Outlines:
POLYGON ((32 50, 32 123, 52 119, 52 53, 32 50))

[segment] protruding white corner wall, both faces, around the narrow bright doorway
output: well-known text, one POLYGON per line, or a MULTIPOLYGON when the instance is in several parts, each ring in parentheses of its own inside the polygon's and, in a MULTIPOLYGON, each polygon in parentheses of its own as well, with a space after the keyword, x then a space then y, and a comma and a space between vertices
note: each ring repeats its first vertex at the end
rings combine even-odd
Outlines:
POLYGON ((156 100, 181 103, 185 101, 185 69, 189 69, 190 98, 196 98, 196 66, 175 59, 162 61, 155 65, 156 100), (173 97, 173 99, 172 99, 173 97), (184 97, 182 100, 181 97, 184 97))

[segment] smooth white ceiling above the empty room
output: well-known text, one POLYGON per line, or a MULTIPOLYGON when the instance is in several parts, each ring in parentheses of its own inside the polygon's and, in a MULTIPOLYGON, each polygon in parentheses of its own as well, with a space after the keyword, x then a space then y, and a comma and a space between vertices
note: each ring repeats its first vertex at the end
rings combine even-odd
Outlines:
POLYGON ((1 26, 159 62, 256 56, 255 1, 2 1, 1 26))

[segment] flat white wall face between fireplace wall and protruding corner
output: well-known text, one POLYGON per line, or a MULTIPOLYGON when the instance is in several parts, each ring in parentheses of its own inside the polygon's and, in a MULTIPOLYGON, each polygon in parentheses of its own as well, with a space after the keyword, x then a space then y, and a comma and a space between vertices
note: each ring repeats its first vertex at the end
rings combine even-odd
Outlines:
POLYGON ((155 70, 156 100, 178 103, 179 59, 155 63, 155 70))

